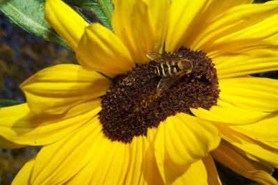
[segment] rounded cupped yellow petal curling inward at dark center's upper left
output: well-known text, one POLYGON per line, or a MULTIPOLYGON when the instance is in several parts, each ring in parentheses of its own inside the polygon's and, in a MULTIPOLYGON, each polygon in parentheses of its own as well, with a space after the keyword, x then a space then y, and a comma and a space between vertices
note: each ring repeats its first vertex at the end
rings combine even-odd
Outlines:
POLYGON ((98 23, 85 29, 76 58, 85 70, 104 74, 123 74, 135 66, 122 41, 98 23))

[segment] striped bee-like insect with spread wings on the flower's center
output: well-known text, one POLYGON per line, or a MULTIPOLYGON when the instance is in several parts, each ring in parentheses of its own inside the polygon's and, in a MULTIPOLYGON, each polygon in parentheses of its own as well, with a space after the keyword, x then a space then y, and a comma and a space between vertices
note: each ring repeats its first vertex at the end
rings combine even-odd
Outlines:
POLYGON ((193 63, 186 58, 167 56, 158 53, 147 53, 146 56, 160 65, 155 67, 154 73, 162 77, 156 90, 164 91, 176 83, 183 75, 192 72, 193 63))

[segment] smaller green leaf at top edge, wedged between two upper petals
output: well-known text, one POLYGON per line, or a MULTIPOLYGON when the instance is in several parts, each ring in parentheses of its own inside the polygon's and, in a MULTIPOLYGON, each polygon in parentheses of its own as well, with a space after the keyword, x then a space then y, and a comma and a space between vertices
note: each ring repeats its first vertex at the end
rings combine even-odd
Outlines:
POLYGON ((113 3, 112 0, 64 0, 65 3, 77 6, 84 10, 90 10, 94 12, 97 17, 101 20, 102 24, 106 26, 106 28, 113 31, 111 26, 111 19, 113 14, 113 3))

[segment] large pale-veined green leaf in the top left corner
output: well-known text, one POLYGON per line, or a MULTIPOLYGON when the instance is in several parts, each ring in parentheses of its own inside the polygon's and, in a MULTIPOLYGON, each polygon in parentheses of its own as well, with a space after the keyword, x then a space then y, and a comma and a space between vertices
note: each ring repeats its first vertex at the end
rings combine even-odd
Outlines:
POLYGON ((44 3, 45 1, 40 0, 10 0, 3 3, 0 6, 0 10, 3 11, 13 24, 38 35, 40 38, 70 49, 65 40, 44 19, 44 3))

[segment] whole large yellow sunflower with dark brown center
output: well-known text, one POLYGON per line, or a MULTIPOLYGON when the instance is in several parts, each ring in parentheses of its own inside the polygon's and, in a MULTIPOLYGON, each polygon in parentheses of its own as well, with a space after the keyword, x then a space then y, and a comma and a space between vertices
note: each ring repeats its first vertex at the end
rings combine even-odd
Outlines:
POLYGON ((277 184, 278 83, 248 74, 278 66, 278 2, 113 3, 114 33, 47 1, 81 65, 38 72, 27 104, 0 109, 0 147, 43 145, 14 184, 221 184, 213 159, 277 184), (171 61, 191 67, 166 77, 171 61))

